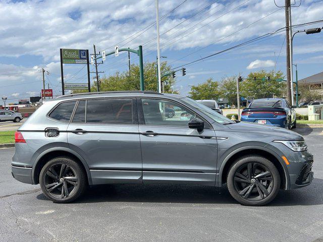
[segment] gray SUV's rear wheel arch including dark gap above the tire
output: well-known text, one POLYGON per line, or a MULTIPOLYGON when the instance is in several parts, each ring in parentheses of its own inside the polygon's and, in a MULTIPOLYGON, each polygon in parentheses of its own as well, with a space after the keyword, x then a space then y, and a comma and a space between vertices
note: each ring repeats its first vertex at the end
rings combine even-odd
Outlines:
POLYGON ((40 170, 45 165, 45 163, 47 161, 49 161, 50 159, 55 158, 55 157, 59 157, 59 156, 68 156, 68 157, 73 158, 76 162, 78 162, 83 167, 84 171, 86 172, 88 184, 92 185, 92 178, 91 178, 90 169, 89 169, 86 161, 84 160, 84 158, 79 153, 77 153, 74 150, 71 150, 69 148, 66 148, 66 147, 50 148, 50 149, 43 151, 42 153, 40 153, 37 156, 37 158, 34 162, 34 165, 32 167, 32 172, 31 172, 33 184, 39 183, 40 170))

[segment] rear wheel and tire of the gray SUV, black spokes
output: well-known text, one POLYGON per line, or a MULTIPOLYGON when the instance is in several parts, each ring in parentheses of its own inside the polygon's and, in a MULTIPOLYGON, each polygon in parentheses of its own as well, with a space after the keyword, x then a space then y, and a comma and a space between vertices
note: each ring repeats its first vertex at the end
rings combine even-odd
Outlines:
POLYGON ((44 195, 55 203, 74 201, 84 193, 87 185, 82 167, 64 156, 53 158, 43 166, 39 183, 44 195))

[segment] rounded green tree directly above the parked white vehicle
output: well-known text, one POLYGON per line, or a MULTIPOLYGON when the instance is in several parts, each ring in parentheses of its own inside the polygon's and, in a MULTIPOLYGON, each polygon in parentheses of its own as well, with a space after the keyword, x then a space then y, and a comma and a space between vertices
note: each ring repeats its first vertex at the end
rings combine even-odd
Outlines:
POLYGON ((220 96, 219 83, 213 81, 213 78, 209 78, 206 82, 198 84, 197 86, 191 86, 189 95, 192 99, 211 99, 216 100, 220 96))

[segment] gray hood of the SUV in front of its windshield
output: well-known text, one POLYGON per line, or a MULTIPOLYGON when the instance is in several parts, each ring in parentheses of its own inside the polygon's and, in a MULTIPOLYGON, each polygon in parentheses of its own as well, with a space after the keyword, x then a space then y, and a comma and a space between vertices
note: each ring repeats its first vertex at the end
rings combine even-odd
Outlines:
POLYGON ((294 131, 275 126, 239 122, 236 124, 227 125, 227 127, 235 132, 272 135, 273 137, 277 137, 275 139, 304 140, 303 136, 295 133, 294 131))

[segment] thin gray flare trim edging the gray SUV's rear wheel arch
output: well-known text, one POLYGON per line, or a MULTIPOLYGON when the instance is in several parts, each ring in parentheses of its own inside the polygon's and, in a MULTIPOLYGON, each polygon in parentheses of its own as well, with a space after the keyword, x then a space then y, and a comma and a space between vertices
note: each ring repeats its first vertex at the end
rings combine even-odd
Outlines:
POLYGON ((32 166, 32 171, 31 171, 31 177, 32 177, 32 183, 33 184, 36 184, 35 183, 35 168, 37 166, 37 163, 41 160, 41 158, 50 153, 50 152, 53 152, 53 151, 64 151, 64 152, 68 152, 68 153, 71 153, 72 155, 75 155, 83 164, 83 166, 85 167, 85 170, 86 170, 86 174, 87 174, 87 178, 88 178, 88 182, 89 182, 89 185, 92 185, 92 178, 91 178, 91 173, 90 173, 90 169, 89 169, 89 166, 87 165, 86 161, 84 160, 84 158, 79 154, 77 153, 76 151, 68 148, 68 147, 53 147, 53 148, 49 148, 49 149, 46 149, 44 151, 42 151, 40 154, 38 152, 36 152, 35 154, 38 154, 38 156, 36 157, 35 159, 35 162, 32 166))

